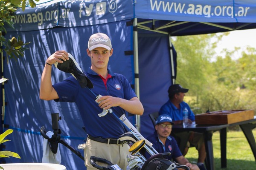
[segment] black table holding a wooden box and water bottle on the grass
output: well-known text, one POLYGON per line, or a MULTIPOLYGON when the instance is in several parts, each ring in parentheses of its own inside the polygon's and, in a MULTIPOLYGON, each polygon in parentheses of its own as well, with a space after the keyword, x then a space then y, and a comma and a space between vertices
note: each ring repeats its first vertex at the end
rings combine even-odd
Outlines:
MULTIPOLYGON (((256 142, 253 136, 252 130, 256 127, 256 116, 254 119, 236 122, 232 124, 225 125, 190 125, 187 128, 183 128, 182 125, 173 125, 172 132, 178 133, 188 133, 188 132, 199 132, 204 135, 205 149, 207 152, 206 157, 206 168, 207 170, 214 170, 214 157, 213 157, 213 147, 212 147, 212 133, 215 131, 220 131, 220 142, 221 142, 221 168, 227 167, 227 127, 239 125, 243 131, 248 143, 250 144, 251 150, 256 161, 256 142)), ((184 150, 186 142, 188 140, 186 135, 181 139, 179 145, 180 150, 184 150)))

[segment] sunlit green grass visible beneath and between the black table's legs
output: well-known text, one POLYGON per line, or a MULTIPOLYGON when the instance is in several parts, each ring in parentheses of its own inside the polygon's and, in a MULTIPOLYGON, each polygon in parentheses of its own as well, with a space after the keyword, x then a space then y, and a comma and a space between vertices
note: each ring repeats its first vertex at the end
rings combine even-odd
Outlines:
MULTIPOLYGON (((256 136, 256 129, 253 130, 256 136)), ((227 168, 221 168, 220 134, 212 136, 215 170, 256 170, 256 161, 247 139, 242 131, 227 132, 227 168)), ((190 162, 196 163, 198 152, 195 147, 189 148, 185 156, 190 162)))

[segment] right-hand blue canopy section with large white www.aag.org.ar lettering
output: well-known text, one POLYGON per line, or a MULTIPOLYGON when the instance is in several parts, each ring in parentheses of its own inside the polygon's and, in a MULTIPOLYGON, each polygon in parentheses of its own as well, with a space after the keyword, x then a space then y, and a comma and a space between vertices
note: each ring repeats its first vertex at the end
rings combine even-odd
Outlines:
POLYGON ((140 0, 135 4, 138 28, 171 36, 256 28, 253 0, 140 0))

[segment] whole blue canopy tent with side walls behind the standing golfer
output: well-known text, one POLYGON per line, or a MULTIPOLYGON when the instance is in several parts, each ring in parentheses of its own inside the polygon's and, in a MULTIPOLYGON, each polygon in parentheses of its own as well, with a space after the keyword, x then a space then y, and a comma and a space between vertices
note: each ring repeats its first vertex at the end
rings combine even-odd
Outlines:
MULTIPOLYGON (((256 28, 255 16, 252 0, 67 0, 18 10, 13 20, 15 29, 7 28, 6 38, 20 36, 31 43, 17 62, 10 60, 7 64, 2 59, 3 77, 9 78, 3 86, 4 131, 14 130, 8 136, 12 142, 6 142, 6 150, 21 157, 5 161, 41 162, 43 137, 39 130, 41 126, 52 130, 51 113, 62 117, 61 137, 68 144, 76 148, 84 143, 86 133, 75 104, 39 99, 45 60, 56 50, 73 54, 86 71, 90 66, 86 54, 90 35, 108 34, 114 50, 109 68, 125 75, 140 97, 144 114, 129 119, 147 137, 154 130, 148 114, 167 101, 166 91, 175 82, 176 52, 171 37, 256 28)), ((53 83, 68 76, 52 68, 53 83)), ((78 156, 61 144, 59 147, 61 164, 67 169, 85 169, 78 156)))

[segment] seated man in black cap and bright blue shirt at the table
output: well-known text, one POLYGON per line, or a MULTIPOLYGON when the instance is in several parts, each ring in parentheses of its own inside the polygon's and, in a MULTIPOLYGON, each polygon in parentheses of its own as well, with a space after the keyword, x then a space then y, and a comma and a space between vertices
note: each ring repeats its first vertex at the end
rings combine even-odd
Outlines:
MULTIPOLYGON (((185 93, 189 89, 183 88, 181 85, 171 85, 168 89, 169 100, 160 108, 159 115, 169 115, 175 124, 183 123, 183 109, 187 108, 189 111, 189 123, 195 122, 195 115, 191 111, 189 105, 183 101, 185 93)), ((204 138, 202 133, 191 132, 188 142, 188 147, 192 145, 198 150, 198 167, 200 170, 205 170, 204 160, 206 158, 206 151, 204 146, 204 138)), ((183 155, 185 156, 188 147, 185 149, 183 155)))

